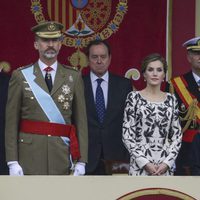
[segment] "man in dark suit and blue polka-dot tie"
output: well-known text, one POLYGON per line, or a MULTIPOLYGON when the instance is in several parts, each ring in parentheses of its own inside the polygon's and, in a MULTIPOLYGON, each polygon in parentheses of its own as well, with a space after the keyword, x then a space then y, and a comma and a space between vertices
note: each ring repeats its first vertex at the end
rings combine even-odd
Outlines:
POLYGON ((108 175, 112 173, 108 163, 129 159, 122 143, 122 122, 126 96, 132 91, 132 84, 129 79, 108 72, 111 50, 107 42, 91 41, 87 56, 90 73, 83 78, 89 134, 86 174, 108 175), (98 87, 103 106, 98 100, 98 87))

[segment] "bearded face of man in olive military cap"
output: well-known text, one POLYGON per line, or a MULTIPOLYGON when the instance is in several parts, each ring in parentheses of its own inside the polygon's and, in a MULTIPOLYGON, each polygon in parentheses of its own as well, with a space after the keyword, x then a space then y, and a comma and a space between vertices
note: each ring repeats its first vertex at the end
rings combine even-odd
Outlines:
POLYGON ((56 60, 61 48, 60 38, 37 38, 34 47, 39 51, 41 60, 56 60))

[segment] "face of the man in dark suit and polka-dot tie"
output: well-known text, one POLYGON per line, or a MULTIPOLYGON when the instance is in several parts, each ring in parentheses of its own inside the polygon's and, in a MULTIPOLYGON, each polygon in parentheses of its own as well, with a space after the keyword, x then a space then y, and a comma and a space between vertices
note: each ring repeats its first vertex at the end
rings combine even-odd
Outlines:
POLYGON ((98 77, 103 76, 111 62, 111 55, 104 44, 93 45, 89 50, 89 66, 98 77))

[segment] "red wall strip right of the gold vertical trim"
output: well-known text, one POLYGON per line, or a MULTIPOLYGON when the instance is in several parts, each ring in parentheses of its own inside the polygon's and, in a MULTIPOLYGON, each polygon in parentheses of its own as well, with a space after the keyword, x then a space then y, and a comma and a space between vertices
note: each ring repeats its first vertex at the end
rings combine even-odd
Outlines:
MULTIPOLYGON (((195 37, 195 0, 172 0, 172 75, 190 69, 182 44, 195 37)), ((198 1, 198 0, 197 0, 198 1)))

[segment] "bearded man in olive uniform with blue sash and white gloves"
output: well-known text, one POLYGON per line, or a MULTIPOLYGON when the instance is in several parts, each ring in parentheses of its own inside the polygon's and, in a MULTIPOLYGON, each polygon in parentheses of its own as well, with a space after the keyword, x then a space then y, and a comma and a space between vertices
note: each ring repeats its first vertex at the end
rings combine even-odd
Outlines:
POLYGON ((15 70, 10 79, 5 130, 10 175, 68 175, 70 158, 73 174, 85 174, 84 86, 80 72, 57 61, 62 28, 53 21, 34 26, 39 60, 15 70))

